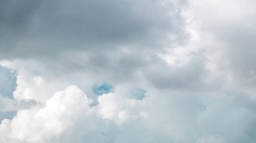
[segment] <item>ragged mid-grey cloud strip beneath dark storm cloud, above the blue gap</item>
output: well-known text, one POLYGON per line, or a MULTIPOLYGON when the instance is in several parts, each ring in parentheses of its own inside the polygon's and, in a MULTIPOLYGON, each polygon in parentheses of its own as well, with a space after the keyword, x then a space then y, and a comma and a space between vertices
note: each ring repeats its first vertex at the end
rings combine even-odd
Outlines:
POLYGON ((154 61, 152 52, 141 56, 141 50, 123 50, 119 48, 111 51, 94 52, 66 52, 59 55, 58 60, 44 59, 44 64, 53 73, 71 74, 76 69, 77 73, 84 73, 94 79, 110 82, 123 83, 138 81, 141 79, 143 68, 150 66, 154 61), (125 51, 128 50, 128 51, 125 51), (68 59, 68 60, 67 60, 68 59))

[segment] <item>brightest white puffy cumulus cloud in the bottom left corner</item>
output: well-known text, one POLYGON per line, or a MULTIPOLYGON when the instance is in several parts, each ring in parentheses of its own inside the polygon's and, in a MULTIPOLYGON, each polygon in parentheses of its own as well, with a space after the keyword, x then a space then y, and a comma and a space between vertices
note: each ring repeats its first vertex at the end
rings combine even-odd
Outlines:
POLYGON ((90 99, 80 89, 67 87, 65 91, 55 93, 44 107, 19 110, 13 120, 3 120, 0 127, 1 142, 57 140, 81 113, 90 112, 90 103, 90 99))

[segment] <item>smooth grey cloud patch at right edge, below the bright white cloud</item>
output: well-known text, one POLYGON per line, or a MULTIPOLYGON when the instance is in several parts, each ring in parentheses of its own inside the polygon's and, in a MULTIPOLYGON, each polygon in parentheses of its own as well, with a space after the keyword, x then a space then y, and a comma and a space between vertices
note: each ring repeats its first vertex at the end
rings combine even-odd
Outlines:
POLYGON ((227 32, 226 55, 232 68, 232 72, 238 77, 238 80, 245 85, 255 85, 256 73, 256 31, 251 28, 228 28, 232 32, 227 32))

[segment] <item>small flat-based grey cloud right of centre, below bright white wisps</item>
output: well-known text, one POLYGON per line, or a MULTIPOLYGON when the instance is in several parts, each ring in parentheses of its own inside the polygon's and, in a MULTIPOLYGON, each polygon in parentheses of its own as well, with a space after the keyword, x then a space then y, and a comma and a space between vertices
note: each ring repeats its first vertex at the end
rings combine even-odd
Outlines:
POLYGON ((207 73, 203 61, 197 54, 191 56, 189 63, 181 67, 160 61, 155 66, 150 66, 145 75, 160 89, 201 89, 204 85, 204 75, 207 73))

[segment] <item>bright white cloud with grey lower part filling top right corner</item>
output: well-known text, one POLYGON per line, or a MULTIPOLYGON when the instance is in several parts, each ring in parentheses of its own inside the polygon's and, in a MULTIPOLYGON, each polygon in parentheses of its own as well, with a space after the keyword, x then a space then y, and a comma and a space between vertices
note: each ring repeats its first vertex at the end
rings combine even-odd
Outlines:
POLYGON ((217 7, 202 1, 194 15, 196 20, 205 25, 201 30, 216 38, 218 44, 207 48, 221 51, 222 55, 215 59, 218 61, 218 69, 227 70, 232 74, 233 82, 244 86, 254 86, 256 83, 256 21, 252 18, 256 12, 253 7, 255 4, 255 1, 250 0, 236 3, 226 1, 226 7, 217 7), (209 13, 215 16, 209 17, 209 13, 201 13, 204 9, 212 9, 209 13))

